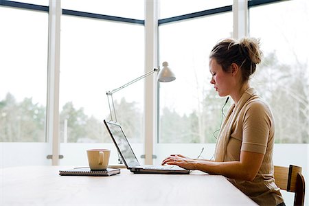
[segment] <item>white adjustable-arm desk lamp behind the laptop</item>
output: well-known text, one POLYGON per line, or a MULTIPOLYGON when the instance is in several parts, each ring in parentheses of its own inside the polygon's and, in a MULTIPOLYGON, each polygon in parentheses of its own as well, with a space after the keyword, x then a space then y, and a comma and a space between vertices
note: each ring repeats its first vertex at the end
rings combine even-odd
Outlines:
POLYGON ((130 84, 133 84, 133 83, 137 82, 138 80, 146 78, 147 76, 150 76, 150 74, 155 73, 155 72, 159 72, 158 78, 157 78, 159 82, 172 82, 173 80, 176 79, 174 73, 168 67, 168 62, 163 62, 162 66, 163 66, 163 69, 160 69, 159 67, 155 68, 152 71, 148 71, 143 76, 140 76, 139 78, 136 78, 135 80, 132 80, 132 81, 122 85, 122 87, 118 87, 117 89, 113 89, 111 91, 106 92, 107 100, 108 100, 108 106, 109 106, 109 112, 111 113, 111 121, 117 122, 116 111, 115 111, 114 100, 113 100, 113 93, 116 93, 117 91, 124 89, 125 87, 128 87, 130 84), (113 119, 112 110, 113 110, 115 119, 113 119))

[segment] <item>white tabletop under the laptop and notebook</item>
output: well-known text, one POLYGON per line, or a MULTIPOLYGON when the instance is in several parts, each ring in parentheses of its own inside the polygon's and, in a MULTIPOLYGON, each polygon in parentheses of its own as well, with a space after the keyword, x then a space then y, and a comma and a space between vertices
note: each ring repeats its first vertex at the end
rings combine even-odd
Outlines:
POLYGON ((256 205, 224 176, 133 174, 59 176, 64 166, 1 170, 0 205, 256 205))

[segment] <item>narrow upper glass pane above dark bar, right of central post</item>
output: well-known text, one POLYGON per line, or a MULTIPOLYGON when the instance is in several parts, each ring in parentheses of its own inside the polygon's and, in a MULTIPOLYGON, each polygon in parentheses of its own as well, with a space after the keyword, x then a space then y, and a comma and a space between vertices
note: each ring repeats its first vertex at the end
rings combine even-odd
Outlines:
POLYGON ((232 5, 233 0, 160 0, 160 17, 159 19, 201 12, 226 5, 232 5))

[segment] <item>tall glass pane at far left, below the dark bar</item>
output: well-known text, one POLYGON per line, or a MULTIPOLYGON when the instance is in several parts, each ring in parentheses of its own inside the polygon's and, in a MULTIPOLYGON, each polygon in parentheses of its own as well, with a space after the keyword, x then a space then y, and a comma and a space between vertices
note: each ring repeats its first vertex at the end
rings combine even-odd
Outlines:
POLYGON ((0 7, 0 141, 45 141, 48 14, 0 7))

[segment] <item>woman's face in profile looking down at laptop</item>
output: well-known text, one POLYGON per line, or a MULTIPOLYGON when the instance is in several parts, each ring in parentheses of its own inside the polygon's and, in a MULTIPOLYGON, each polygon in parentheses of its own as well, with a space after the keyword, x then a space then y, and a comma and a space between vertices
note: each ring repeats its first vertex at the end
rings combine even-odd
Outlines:
POLYGON ((214 89, 218 91, 218 95, 220 97, 229 95, 233 88, 231 73, 223 71, 221 65, 214 58, 209 60, 209 70, 212 75, 210 84, 214 84, 214 89))

